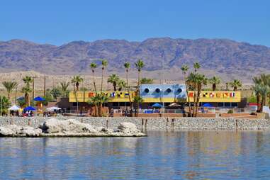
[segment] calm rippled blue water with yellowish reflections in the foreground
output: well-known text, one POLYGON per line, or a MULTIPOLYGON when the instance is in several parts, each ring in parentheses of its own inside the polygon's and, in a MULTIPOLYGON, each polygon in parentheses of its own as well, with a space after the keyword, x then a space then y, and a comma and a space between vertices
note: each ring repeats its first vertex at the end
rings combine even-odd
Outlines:
POLYGON ((270 133, 0 138, 0 179, 270 179, 270 133))

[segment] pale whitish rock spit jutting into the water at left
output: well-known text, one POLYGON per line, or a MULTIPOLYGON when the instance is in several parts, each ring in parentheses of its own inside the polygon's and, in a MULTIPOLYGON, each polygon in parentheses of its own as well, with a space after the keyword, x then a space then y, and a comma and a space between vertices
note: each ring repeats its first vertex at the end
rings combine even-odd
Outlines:
POLYGON ((141 137, 133 123, 120 123, 117 129, 98 127, 79 120, 50 118, 37 128, 30 125, 0 125, 0 137, 141 137))

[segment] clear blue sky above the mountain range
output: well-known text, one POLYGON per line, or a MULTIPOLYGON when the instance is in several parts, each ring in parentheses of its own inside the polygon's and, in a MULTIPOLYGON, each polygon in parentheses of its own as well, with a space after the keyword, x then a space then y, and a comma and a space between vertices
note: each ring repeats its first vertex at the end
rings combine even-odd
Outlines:
POLYGON ((0 40, 229 38, 270 47, 269 0, 6 0, 0 40))

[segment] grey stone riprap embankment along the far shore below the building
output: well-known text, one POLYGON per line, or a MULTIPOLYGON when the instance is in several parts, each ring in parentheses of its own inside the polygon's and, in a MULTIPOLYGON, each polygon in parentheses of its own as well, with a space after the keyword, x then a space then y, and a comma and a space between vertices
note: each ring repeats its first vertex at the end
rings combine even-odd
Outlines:
MULTIPOLYGON (((71 117, 57 117, 59 120, 67 120, 71 117)), ((19 125, 38 126, 49 118, 33 117, 0 117, 0 126, 19 125)), ((108 127, 117 129, 120 123, 133 123, 140 131, 145 130, 270 130, 270 120, 244 119, 244 118, 94 118, 72 117, 80 123, 88 123, 96 127, 108 127), (142 124, 143 120, 143 124, 142 124), (145 127, 146 125, 146 127, 145 127)))

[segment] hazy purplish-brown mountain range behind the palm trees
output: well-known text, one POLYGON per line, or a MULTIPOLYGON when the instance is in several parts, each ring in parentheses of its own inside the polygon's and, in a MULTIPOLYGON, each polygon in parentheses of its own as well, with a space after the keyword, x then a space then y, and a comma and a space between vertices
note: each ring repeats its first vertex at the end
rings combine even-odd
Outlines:
MULTIPOLYGON (((27 40, 0 41, 0 71, 34 70, 43 74, 89 74, 89 64, 108 60, 108 73, 124 74, 124 62, 145 62, 145 75, 181 78, 181 66, 201 64, 208 76, 217 74, 229 81, 251 81, 254 75, 270 71, 270 48, 227 39, 149 38, 128 40, 73 41, 64 45, 32 43, 27 40)), ((133 65, 134 67, 134 65, 133 65)), ((131 73, 135 76, 135 71, 131 73)))

